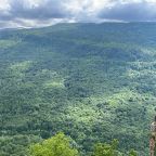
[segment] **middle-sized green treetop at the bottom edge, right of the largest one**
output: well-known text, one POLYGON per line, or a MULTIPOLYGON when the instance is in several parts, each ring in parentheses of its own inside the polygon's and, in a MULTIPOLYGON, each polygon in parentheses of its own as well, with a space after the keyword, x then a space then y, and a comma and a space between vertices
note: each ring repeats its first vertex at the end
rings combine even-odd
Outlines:
POLYGON ((110 144, 99 143, 95 145, 93 156, 117 156, 117 140, 114 140, 110 144))

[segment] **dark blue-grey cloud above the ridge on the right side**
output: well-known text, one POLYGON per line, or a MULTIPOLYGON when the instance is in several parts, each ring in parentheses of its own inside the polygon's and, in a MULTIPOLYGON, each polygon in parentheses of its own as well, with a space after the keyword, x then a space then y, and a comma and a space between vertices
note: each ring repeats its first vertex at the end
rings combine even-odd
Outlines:
POLYGON ((156 21, 156 4, 147 2, 116 3, 103 10, 99 17, 126 22, 156 21))

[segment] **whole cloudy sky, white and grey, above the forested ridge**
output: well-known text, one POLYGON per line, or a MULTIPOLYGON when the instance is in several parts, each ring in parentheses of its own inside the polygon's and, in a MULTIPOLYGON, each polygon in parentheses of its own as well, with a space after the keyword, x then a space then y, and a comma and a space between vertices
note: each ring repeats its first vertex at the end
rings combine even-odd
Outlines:
POLYGON ((156 22, 156 0, 0 0, 0 28, 107 21, 156 22))

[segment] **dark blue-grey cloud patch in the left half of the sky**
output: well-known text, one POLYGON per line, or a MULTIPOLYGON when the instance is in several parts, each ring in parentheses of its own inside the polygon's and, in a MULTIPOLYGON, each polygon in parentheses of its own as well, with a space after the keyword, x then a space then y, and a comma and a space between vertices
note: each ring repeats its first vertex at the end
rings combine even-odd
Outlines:
POLYGON ((67 12, 63 8, 61 0, 47 0, 42 4, 32 8, 25 5, 23 0, 13 0, 11 2, 10 14, 13 17, 29 20, 63 18, 67 16, 67 12))

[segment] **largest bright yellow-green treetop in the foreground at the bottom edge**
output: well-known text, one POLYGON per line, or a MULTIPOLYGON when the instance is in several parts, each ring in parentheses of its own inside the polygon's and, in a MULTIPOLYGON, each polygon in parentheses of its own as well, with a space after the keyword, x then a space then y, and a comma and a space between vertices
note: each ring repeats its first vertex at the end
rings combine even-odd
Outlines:
POLYGON ((29 147, 30 156, 78 156, 78 151, 70 146, 70 139, 58 133, 29 147))

